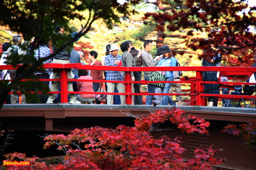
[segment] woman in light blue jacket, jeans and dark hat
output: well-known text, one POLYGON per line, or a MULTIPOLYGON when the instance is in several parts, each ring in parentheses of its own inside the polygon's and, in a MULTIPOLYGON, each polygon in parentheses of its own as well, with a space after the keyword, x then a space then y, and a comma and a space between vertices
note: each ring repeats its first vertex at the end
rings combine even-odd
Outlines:
MULTIPOLYGON (((163 57, 158 62, 157 66, 176 66, 176 59, 173 57, 172 50, 170 50, 168 46, 162 47, 161 54, 163 54, 163 57)), ((162 73, 166 75, 165 81, 174 81, 172 71, 163 71, 162 73)), ((161 88, 161 92, 168 93, 171 85, 172 83, 165 83, 165 86, 161 88)), ((161 105, 168 105, 168 103, 174 106, 177 105, 169 96, 163 96, 161 105)))

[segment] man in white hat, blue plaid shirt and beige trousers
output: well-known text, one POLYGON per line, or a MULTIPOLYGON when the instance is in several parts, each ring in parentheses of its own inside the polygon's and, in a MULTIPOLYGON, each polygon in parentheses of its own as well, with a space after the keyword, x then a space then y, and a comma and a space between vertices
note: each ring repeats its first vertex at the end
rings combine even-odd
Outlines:
MULTIPOLYGON (((121 61, 122 56, 118 55, 118 46, 116 44, 112 44, 110 46, 109 52, 110 55, 105 57, 105 66, 117 66, 118 63, 121 61)), ((112 81, 123 81, 122 75, 120 71, 108 71, 106 72, 105 80, 112 80, 112 81)), ((116 87, 119 93, 124 93, 124 84, 123 83, 109 83, 107 82, 108 86, 108 93, 114 93, 114 88, 116 87)), ((121 104, 125 104, 125 96, 120 95, 121 104)), ((107 104, 113 104, 113 95, 108 95, 107 104)))

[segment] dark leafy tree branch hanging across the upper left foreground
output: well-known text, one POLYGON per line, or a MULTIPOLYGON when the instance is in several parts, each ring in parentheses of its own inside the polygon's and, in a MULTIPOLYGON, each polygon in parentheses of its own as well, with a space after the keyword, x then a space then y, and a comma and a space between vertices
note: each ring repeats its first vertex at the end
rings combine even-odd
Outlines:
MULTIPOLYGON (((20 89, 25 89, 26 85, 24 82, 21 82, 22 79, 27 79, 31 73, 37 71, 38 68, 42 68, 43 61, 54 57, 54 55, 67 47, 71 49, 75 39, 90 31, 91 25, 95 20, 101 18, 108 28, 112 28, 113 23, 120 22, 118 13, 123 13, 124 15, 135 13, 134 9, 129 8, 129 4, 135 5, 138 3, 139 0, 128 0, 122 5, 117 1, 109 0, 88 0, 86 2, 82 0, 1 1, 0 25, 9 26, 13 31, 34 36, 35 39, 29 55, 8 57, 7 62, 9 65, 14 67, 20 63, 23 65, 17 68, 18 74, 11 84, 1 81, 0 87, 3 92, 0 94, 0 108, 3 106, 8 93, 11 92, 11 88, 15 88, 16 91, 18 91, 18 86, 20 86, 20 89), (89 15, 80 15, 74 11, 88 11, 89 15), (86 23, 83 30, 74 38, 68 39, 65 35, 60 38, 53 34, 53 28, 56 26, 56 23, 66 28, 65 30, 67 31, 68 21, 74 18, 78 18, 86 23), (57 50, 48 57, 35 61, 33 54, 34 49, 38 48, 36 44, 50 40, 55 42, 54 46, 56 46, 57 50)), ((26 83, 29 83, 29 81, 26 83)))

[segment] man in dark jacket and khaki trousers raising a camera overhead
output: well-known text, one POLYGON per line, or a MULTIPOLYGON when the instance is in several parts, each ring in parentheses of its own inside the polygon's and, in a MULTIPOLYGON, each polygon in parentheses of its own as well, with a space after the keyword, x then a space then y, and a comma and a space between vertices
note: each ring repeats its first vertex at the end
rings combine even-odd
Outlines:
MULTIPOLYGON (((83 28, 80 28, 77 32, 73 32, 71 34, 72 37, 75 37, 80 31, 82 31, 83 28)), ((54 31, 56 32, 55 34, 59 34, 59 35, 63 35, 65 29, 61 26, 57 26, 54 31)), ((85 29, 82 31, 84 32, 86 31, 85 29)), ((80 39, 80 37, 76 38, 74 40, 74 42, 78 41, 80 39)), ((53 52, 57 51, 57 48, 53 45, 52 46, 52 50, 53 52)), ((67 63, 70 63, 70 54, 69 52, 67 51, 67 49, 63 49, 61 50, 58 54, 56 54, 54 57, 53 57, 53 63, 60 63, 60 64, 67 64, 67 63)), ((52 78, 53 79, 59 79, 60 78, 60 73, 61 73, 61 69, 53 69, 52 72, 53 72, 53 76, 52 78)), ((72 79, 71 77, 71 69, 68 70, 68 79, 72 79)), ((52 85, 50 87, 50 91, 52 92, 55 92, 55 91, 58 91, 59 90, 59 86, 60 86, 60 81, 52 81, 52 85)), ((68 82, 68 91, 70 92, 73 92, 73 85, 72 85, 72 82, 68 82)), ((55 99, 56 97, 56 93, 54 94, 50 94, 49 97, 48 97, 48 101, 47 101, 47 104, 51 104, 53 103, 53 100, 55 99)), ((80 101, 77 101, 76 100, 76 95, 75 94, 68 94, 69 96, 69 103, 70 104, 81 104, 80 101)))

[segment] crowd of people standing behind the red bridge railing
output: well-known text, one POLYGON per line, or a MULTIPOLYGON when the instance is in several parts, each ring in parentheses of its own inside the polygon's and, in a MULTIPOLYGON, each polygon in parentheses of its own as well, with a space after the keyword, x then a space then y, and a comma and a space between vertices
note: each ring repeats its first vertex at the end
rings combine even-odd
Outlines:
MULTIPOLYGON (((63 35, 65 29, 61 26, 57 26, 54 31, 57 35, 63 35)), ((73 32, 71 34, 72 37, 77 37, 75 41, 80 39, 80 36, 77 36, 79 32, 84 32, 85 29, 80 28, 77 32, 73 32)), ((23 35, 24 41, 22 42, 22 36, 16 34, 13 36, 13 44, 9 42, 5 42, 3 44, 3 54, 0 60, 0 65, 4 65, 5 61, 8 60, 8 57, 12 55, 26 55, 30 53, 31 42, 33 41, 32 37, 28 37, 23 35), (22 46, 20 46, 22 44, 22 46), (26 48, 24 48, 26 46, 26 48), (27 50, 24 50, 27 49, 27 50)), ((98 57, 98 53, 96 51, 89 52, 89 60, 90 63, 88 65, 105 65, 105 66, 125 66, 125 67, 152 67, 152 66, 180 66, 178 59, 173 57, 172 50, 168 46, 162 46, 157 50, 157 56, 153 59, 150 51, 153 49, 152 41, 145 40, 144 42, 144 51, 135 49, 130 40, 127 40, 121 43, 120 47, 117 44, 109 44, 106 45, 106 53, 105 56, 101 58, 101 62, 96 58, 98 57), (119 55, 118 52, 122 51, 123 54, 119 55)), ((57 51, 57 47, 52 46, 53 53, 57 51)), ((34 50, 34 57, 38 60, 41 58, 48 57, 51 54, 50 46, 48 42, 41 42, 39 44, 39 48, 34 50)), ((81 60, 83 58, 82 51, 76 51, 72 49, 68 52, 66 49, 61 50, 56 53, 53 58, 48 58, 44 60, 45 63, 83 63, 81 60)), ((218 53, 216 57, 212 58, 212 60, 203 59, 202 66, 220 66, 221 55, 218 53)), ((22 63, 20 63, 22 64, 22 63)), ((131 72, 132 81, 141 81, 142 80, 142 72, 138 72, 138 76, 131 72)), ((180 76, 182 76, 181 71, 163 71, 161 72, 165 74, 166 81, 180 81, 180 76)), ((17 75, 16 70, 2 70, 1 71, 1 79, 14 79, 17 75)), ((136 73, 137 74, 137 73, 136 73)), ((150 72, 144 72, 144 80, 148 81, 148 77, 150 72)), ((81 80, 105 80, 110 81, 125 81, 124 72, 120 71, 106 71, 106 70, 82 70, 82 69, 70 69, 67 73, 68 79, 77 79, 79 81, 68 81, 68 91, 78 91, 78 92, 98 92, 103 83, 102 82, 86 82, 81 80)), ((31 78, 36 79, 59 79, 61 77, 61 69, 45 69, 44 71, 35 72, 31 75, 31 78)), ((218 73, 213 71, 205 72, 205 81, 218 81, 218 73)), ((221 81, 227 81, 227 78, 221 77, 221 81)), ((43 81, 44 84, 49 85, 51 92, 60 91, 60 81, 43 81)), ((31 92, 37 92, 42 89, 39 89, 40 86, 35 84, 34 88, 28 89, 31 92)), ((140 93, 140 83, 132 84, 132 93, 140 93)), ((109 93, 125 93, 124 84, 123 83, 105 83, 106 92, 109 93)), ((176 93, 181 92, 181 83, 165 83, 164 87, 156 88, 147 84, 148 94, 150 93, 173 93, 173 89, 175 89, 176 93)), ((12 92, 14 90, 12 89, 12 92)), ((228 94, 229 89, 222 89, 222 94, 228 94)), ((204 85, 204 93, 206 94, 220 94, 219 92, 219 84, 205 84, 204 85)), ((7 100, 7 103, 10 104, 18 104, 17 94, 11 94, 10 100, 7 100)), ((53 104, 60 103, 60 94, 50 93, 50 94, 38 94, 35 98, 39 98, 40 101, 36 101, 35 98, 26 99, 26 95, 22 94, 22 104, 25 103, 43 103, 43 104, 53 104)), ((173 101, 173 96, 168 95, 147 95, 146 97, 146 105, 182 105, 182 96, 176 95, 176 102, 173 101)), ((101 104, 101 101, 95 100, 95 94, 68 94, 68 101, 70 104, 101 104)), ((217 106, 218 99, 215 97, 208 98, 209 106, 217 106)), ((229 101, 224 101, 229 102, 229 101)), ((124 95, 111 95, 107 96, 106 100, 107 104, 125 104, 125 96, 124 95)), ((142 105, 142 95, 132 96, 132 104, 142 105)))

